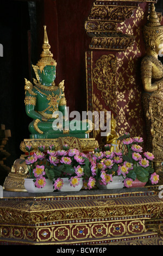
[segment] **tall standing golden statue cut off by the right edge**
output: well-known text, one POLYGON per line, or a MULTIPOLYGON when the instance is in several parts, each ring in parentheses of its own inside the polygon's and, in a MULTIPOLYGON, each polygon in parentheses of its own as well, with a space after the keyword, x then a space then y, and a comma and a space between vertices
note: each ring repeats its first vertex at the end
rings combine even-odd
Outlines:
POLYGON ((147 125, 146 150, 154 154, 154 167, 159 172, 163 162, 163 65, 158 56, 163 50, 163 26, 160 25, 153 3, 143 34, 146 56, 141 63, 141 77, 147 125))

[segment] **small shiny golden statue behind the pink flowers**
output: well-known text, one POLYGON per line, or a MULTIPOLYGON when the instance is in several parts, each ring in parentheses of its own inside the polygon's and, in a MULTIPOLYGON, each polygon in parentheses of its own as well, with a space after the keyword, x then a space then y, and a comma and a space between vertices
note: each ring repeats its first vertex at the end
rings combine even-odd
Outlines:
POLYGON ((117 139, 119 138, 118 133, 116 132, 116 120, 114 119, 114 115, 111 116, 111 132, 108 133, 106 136, 106 143, 110 144, 110 152, 117 151, 118 150, 118 142, 117 139))

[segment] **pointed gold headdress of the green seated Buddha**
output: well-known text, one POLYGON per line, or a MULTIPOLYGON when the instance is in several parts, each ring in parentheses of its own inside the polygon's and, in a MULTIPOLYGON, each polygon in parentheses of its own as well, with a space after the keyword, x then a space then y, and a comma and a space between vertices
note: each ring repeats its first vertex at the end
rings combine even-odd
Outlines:
POLYGON ((42 44, 43 51, 40 54, 41 59, 36 64, 36 66, 38 66, 40 68, 41 72, 46 65, 49 65, 49 66, 57 65, 57 62, 53 59, 53 54, 49 50, 51 48, 51 46, 49 45, 49 42, 48 42, 46 26, 43 26, 43 27, 44 27, 44 38, 43 38, 43 44, 42 44))

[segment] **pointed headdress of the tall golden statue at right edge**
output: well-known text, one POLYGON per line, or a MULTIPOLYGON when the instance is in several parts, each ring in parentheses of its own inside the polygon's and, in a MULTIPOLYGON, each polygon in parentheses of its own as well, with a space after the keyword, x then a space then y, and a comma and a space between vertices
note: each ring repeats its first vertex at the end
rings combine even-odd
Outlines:
POLYGON ((156 40, 158 36, 163 35, 163 26, 161 26, 159 17, 156 14, 154 3, 151 4, 151 12, 143 29, 143 35, 147 46, 150 46, 150 40, 156 40))

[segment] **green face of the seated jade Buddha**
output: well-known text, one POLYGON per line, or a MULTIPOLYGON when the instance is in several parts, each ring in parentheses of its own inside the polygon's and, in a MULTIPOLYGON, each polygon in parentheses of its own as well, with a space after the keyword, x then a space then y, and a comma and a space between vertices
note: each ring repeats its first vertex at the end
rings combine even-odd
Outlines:
POLYGON ((55 80, 56 67, 55 66, 45 66, 41 73, 42 84, 50 85, 55 80))

